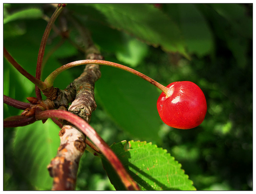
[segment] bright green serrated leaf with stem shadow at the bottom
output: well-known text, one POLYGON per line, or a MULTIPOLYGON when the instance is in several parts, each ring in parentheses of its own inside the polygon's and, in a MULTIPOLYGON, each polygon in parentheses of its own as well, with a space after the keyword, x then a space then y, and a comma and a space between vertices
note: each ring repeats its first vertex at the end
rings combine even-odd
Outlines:
MULTIPOLYGON (((181 164, 174 160, 167 150, 158 148, 152 143, 133 140, 128 143, 127 150, 126 141, 110 147, 141 190, 195 190, 192 181, 181 169, 181 164)), ((110 164, 105 159, 102 163, 115 188, 124 190, 110 164)))

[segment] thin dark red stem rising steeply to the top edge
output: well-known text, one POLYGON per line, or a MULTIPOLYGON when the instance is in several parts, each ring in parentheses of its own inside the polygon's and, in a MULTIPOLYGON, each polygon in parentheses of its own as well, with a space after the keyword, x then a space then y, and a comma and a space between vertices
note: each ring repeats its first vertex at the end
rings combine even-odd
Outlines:
MULTIPOLYGON (((52 17, 50 18, 50 20, 46 26, 46 29, 44 31, 44 35, 42 37, 39 52, 38 52, 37 64, 36 64, 36 78, 39 80, 41 79, 42 62, 43 62, 43 58, 44 58, 44 51, 45 51, 47 39, 50 35, 51 29, 52 29, 52 26, 53 26, 55 20, 57 19, 58 15, 60 14, 60 12, 63 10, 63 8, 65 6, 62 6, 62 4, 59 4, 59 6, 57 6, 55 12, 52 14, 52 17)), ((42 95, 41 95, 40 89, 41 88, 39 86, 36 86, 35 90, 36 90, 36 97, 38 98, 38 100, 42 100, 42 95)))

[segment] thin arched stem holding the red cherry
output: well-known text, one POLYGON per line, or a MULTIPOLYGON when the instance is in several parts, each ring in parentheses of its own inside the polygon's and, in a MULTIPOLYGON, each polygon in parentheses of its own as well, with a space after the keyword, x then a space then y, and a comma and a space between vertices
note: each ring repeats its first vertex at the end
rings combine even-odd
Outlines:
POLYGON ((105 60, 79 60, 79 61, 74 61, 68 64, 65 64, 61 67, 59 67, 58 69, 54 70, 45 80, 44 83, 48 86, 51 87, 53 86, 53 82, 55 80, 55 78, 58 76, 58 74, 60 74, 61 72, 63 72, 64 70, 67 70, 69 68, 75 67, 75 66, 79 66, 79 65, 85 65, 85 64, 98 64, 98 65, 106 65, 106 66, 111 66, 111 67, 116 67, 122 70, 125 70, 127 72, 130 72, 132 74, 135 74, 136 76, 141 77, 142 79, 150 82, 150 84, 153 84, 154 86, 156 86, 157 88, 159 88, 160 90, 162 90, 166 96, 168 96, 168 92, 169 92, 169 88, 163 86, 162 84, 156 82, 155 80, 153 80, 152 78, 132 69, 129 68, 127 66, 118 64, 118 63, 114 63, 114 62, 110 62, 110 61, 105 61, 105 60))

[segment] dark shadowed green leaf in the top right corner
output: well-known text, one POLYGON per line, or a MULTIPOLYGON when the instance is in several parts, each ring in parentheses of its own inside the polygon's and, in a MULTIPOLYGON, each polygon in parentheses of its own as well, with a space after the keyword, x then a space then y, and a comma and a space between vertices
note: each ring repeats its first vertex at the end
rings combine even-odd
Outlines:
POLYGON ((252 39, 252 18, 247 16, 244 6, 239 4, 210 4, 223 20, 215 20, 221 37, 226 41, 240 68, 247 65, 248 38, 252 39), (226 25, 225 25, 226 24, 226 25), (225 26, 224 26, 225 25, 225 26))

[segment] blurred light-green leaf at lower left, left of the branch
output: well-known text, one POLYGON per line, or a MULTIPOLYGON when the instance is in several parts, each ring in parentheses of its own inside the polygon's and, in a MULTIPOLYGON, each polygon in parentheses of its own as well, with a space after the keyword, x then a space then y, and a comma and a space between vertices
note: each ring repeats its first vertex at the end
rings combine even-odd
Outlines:
POLYGON ((38 190, 50 190, 52 187, 53 180, 47 165, 56 155, 60 144, 58 132, 58 126, 51 120, 16 129, 13 149, 17 166, 38 190))

